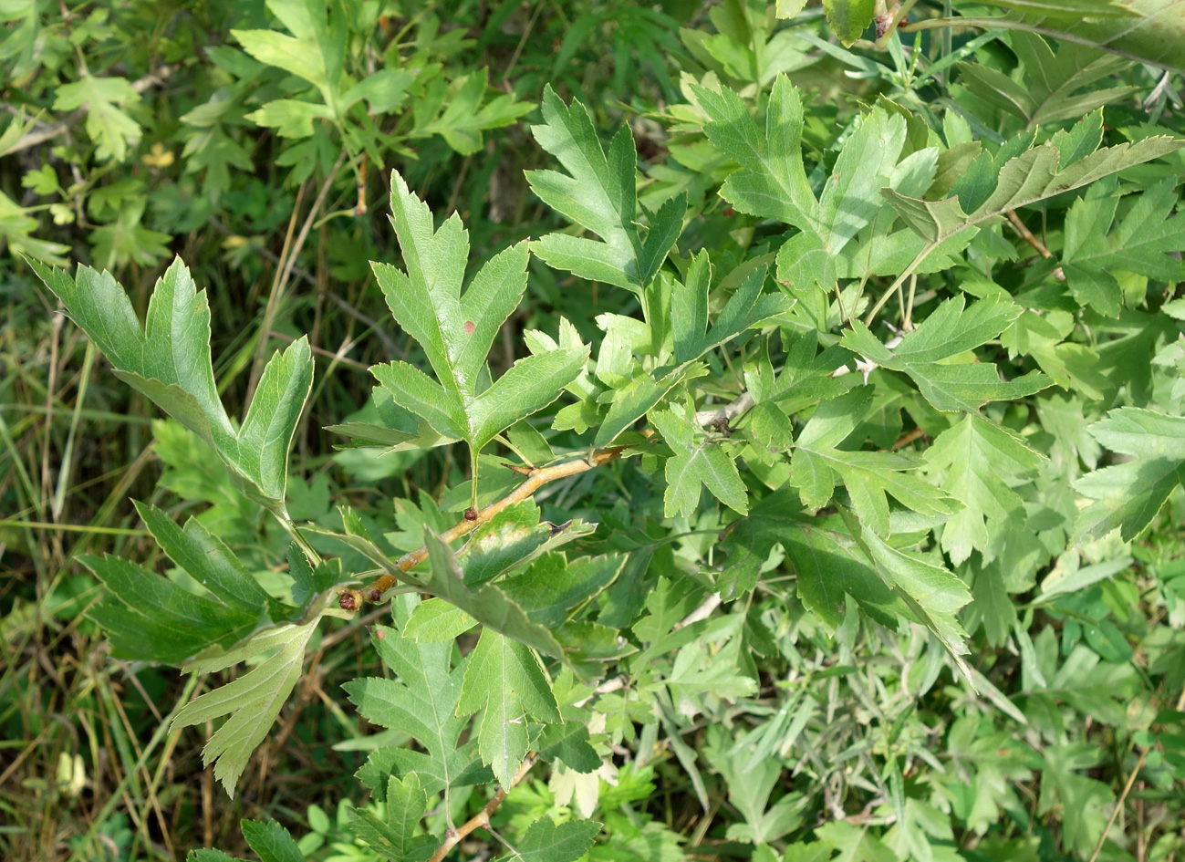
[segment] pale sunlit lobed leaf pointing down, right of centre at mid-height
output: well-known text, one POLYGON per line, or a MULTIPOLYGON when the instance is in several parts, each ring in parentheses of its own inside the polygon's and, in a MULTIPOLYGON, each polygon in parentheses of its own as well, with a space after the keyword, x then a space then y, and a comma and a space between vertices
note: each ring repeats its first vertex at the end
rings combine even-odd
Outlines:
POLYGON ((963 416, 934 440, 925 462, 942 474, 941 487, 965 506, 942 528, 942 549, 955 564, 973 549, 989 562, 1007 531, 1024 529, 1024 502, 1013 489, 1044 460, 1019 438, 981 416, 963 416))

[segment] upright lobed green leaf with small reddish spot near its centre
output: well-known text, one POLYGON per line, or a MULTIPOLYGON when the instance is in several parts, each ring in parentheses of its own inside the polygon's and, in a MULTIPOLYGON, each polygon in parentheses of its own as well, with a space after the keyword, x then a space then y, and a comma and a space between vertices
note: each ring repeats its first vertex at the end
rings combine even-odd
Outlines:
POLYGON ((391 211, 408 270, 374 263, 374 277, 396 321, 419 343, 436 381, 404 362, 376 365, 371 372, 396 404, 479 452, 559 397, 583 370, 588 347, 556 346, 519 359, 479 391, 486 355, 526 289, 526 243, 493 257, 462 295, 469 240, 461 219, 454 215, 434 229, 427 204, 398 173, 391 175, 391 211))

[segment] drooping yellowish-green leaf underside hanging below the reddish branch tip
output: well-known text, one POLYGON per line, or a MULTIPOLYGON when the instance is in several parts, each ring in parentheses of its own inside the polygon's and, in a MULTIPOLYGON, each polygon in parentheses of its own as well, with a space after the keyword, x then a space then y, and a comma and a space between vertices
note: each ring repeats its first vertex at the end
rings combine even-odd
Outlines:
MULTIPOLYGON (((319 621, 320 617, 286 627, 283 640, 273 656, 233 682, 191 701, 173 719, 171 727, 179 728, 230 715, 206 741, 201 762, 205 766, 214 764, 214 778, 222 781, 231 798, 251 752, 268 735, 268 728, 300 678, 305 645, 319 621)), ((274 638, 268 643, 275 643, 274 638)))

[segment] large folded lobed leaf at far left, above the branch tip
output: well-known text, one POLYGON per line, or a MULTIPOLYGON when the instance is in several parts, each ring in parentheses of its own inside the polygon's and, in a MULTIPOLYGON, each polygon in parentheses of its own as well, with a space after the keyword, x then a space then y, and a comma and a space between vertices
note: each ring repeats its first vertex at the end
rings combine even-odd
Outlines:
POLYGON ((110 274, 79 266, 71 279, 37 262, 32 266, 120 379, 205 440, 244 493, 283 511, 288 449, 313 385, 307 338, 273 356, 236 429, 214 384, 206 292, 197 289, 180 260, 156 281, 142 330, 110 274))

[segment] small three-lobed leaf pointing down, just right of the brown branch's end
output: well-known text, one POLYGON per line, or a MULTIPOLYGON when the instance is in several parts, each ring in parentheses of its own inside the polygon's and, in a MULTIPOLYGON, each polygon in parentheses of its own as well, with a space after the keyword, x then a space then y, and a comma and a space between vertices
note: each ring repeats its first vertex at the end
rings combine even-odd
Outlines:
POLYGON ((678 408, 651 414, 651 422, 674 451, 667 459, 666 517, 693 515, 699 507, 699 490, 706 486, 720 503, 744 515, 748 492, 732 456, 688 422, 678 408))

